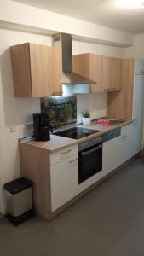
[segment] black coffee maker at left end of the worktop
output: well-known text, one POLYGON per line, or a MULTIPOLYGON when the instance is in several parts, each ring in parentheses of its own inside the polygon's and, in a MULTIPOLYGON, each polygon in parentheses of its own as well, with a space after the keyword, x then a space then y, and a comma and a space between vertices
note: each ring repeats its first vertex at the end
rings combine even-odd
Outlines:
POLYGON ((49 141, 52 127, 47 113, 33 113, 33 138, 35 141, 49 141))

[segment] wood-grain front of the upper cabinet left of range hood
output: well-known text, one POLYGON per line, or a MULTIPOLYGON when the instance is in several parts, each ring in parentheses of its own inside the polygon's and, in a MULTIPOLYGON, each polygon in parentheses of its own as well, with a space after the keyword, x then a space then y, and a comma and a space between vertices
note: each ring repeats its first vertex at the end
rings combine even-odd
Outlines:
POLYGON ((30 44, 32 97, 62 93, 60 49, 47 45, 30 44))

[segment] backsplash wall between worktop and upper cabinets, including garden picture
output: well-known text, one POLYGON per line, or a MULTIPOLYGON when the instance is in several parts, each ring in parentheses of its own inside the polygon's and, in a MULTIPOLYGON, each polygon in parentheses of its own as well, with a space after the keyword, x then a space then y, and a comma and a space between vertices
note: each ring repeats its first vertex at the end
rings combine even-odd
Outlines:
POLYGON ((76 123, 81 123, 82 111, 85 109, 90 111, 91 119, 106 116, 106 93, 41 98, 41 111, 49 114, 49 120, 54 129, 69 128, 76 123))

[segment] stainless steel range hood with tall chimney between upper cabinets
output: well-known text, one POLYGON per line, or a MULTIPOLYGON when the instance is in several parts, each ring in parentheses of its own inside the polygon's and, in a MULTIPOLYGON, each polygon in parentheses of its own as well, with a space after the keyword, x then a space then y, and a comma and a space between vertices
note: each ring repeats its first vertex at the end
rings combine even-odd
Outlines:
POLYGON ((62 84, 96 84, 78 73, 72 72, 72 36, 66 33, 52 37, 53 46, 60 47, 62 56, 62 84))

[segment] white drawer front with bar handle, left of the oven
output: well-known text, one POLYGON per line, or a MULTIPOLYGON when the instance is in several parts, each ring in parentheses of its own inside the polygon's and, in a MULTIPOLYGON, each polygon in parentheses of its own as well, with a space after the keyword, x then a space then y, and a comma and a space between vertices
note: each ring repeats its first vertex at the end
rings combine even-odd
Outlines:
POLYGON ((78 145, 72 147, 64 148, 60 151, 57 151, 53 154, 50 154, 50 165, 60 162, 61 160, 66 160, 68 157, 73 154, 78 154, 78 145))

